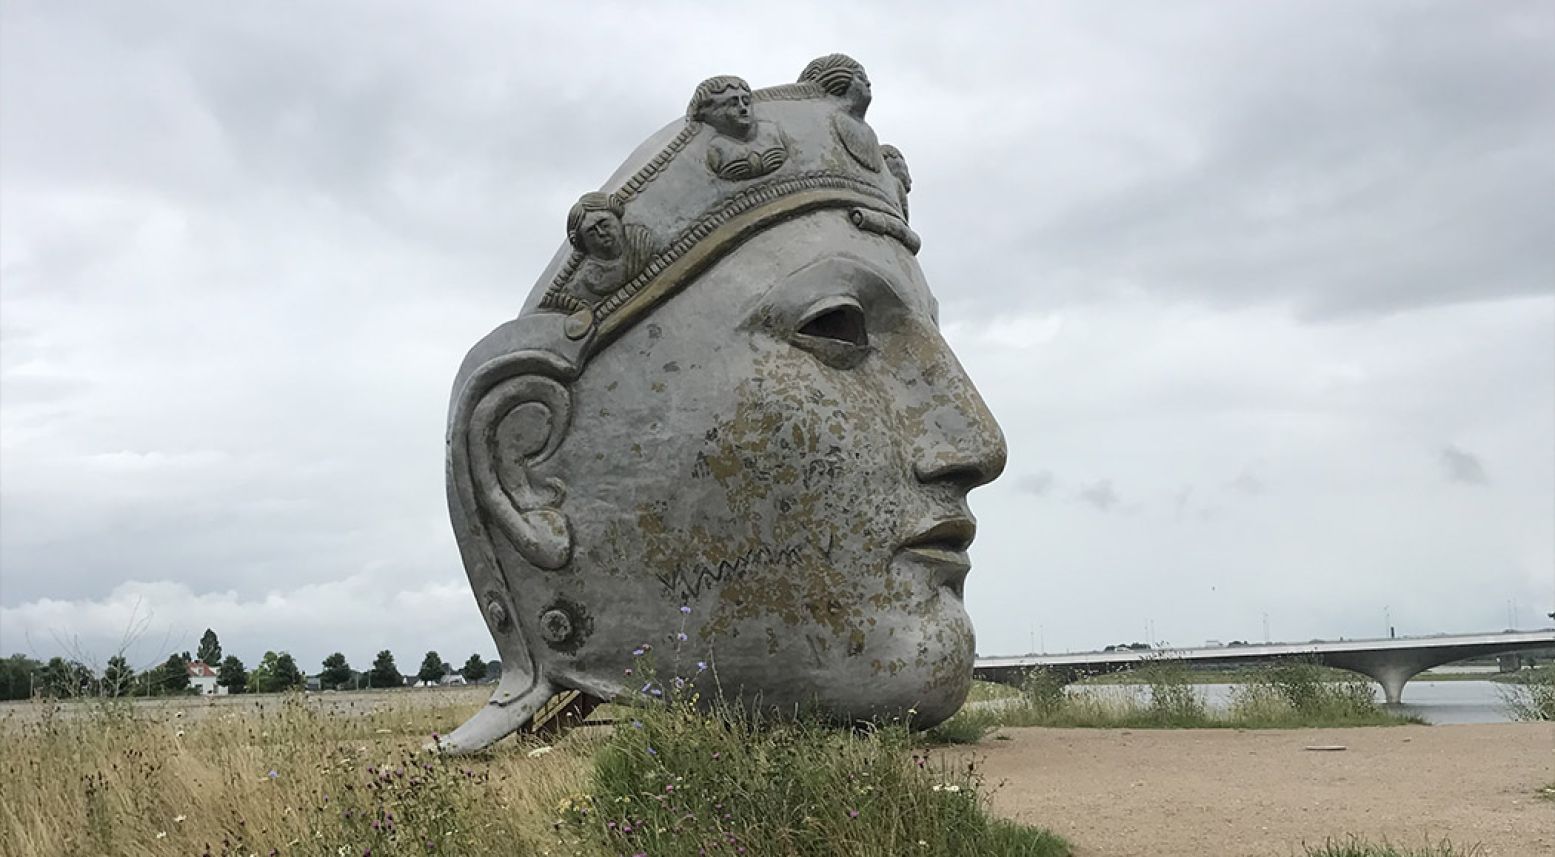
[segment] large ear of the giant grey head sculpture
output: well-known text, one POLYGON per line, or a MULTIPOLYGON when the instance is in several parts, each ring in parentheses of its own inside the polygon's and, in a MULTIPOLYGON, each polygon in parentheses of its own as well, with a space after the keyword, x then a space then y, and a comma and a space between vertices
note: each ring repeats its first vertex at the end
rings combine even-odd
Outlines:
POLYGON ((550 457, 572 418, 572 397, 552 376, 522 373, 471 390, 463 426, 468 476, 479 515, 496 524, 521 557, 555 571, 572 558, 560 479, 533 468, 550 457))

